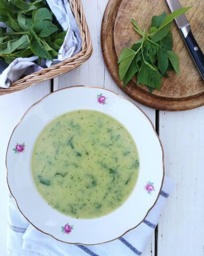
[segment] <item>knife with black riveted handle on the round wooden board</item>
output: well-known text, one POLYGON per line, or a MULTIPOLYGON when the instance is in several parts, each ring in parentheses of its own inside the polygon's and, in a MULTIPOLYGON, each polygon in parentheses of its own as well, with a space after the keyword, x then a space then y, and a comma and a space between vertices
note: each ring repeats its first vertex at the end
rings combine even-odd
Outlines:
MULTIPOLYGON (((166 0, 167 4, 171 12, 174 12, 177 9, 181 9, 180 2, 178 0, 166 0)), ((196 42, 194 35, 191 31, 191 26, 187 20, 185 14, 178 16, 176 19, 176 23, 178 28, 180 29, 182 38, 184 39, 185 43, 187 44, 188 50, 194 59, 194 62, 201 73, 202 79, 204 79, 204 55, 199 47, 198 43, 196 42)))

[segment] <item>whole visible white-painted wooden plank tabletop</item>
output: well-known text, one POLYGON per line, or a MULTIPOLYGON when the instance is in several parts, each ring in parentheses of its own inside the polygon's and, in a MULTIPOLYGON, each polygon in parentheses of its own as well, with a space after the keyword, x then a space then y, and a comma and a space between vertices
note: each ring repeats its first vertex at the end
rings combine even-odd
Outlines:
MULTIPOLYGON (((79 68, 53 80, 54 90, 71 85, 103 86, 119 94, 103 62, 100 32, 108 0, 83 0, 94 52, 79 68)), ((5 152, 10 134, 24 111, 51 92, 51 80, 21 92, 0 96, 0 255, 6 256, 8 188, 5 152)), ((138 104, 151 118, 164 148, 166 176, 176 189, 167 199, 158 228, 144 256, 204 255, 204 107, 171 113, 138 104)), ((114 256, 114 255, 111 255, 114 256)), ((116 255, 117 256, 117 255, 116 255)), ((124 255, 127 256, 127 255, 124 255)))

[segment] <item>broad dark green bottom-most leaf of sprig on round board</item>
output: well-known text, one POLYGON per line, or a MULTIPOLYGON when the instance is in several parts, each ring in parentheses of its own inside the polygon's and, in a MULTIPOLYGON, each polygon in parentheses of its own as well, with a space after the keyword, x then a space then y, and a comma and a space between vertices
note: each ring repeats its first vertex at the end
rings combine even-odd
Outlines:
POLYGON ((151 64, 143 63, 137 75, 138 83, 160 90, 162 75, 151 64))

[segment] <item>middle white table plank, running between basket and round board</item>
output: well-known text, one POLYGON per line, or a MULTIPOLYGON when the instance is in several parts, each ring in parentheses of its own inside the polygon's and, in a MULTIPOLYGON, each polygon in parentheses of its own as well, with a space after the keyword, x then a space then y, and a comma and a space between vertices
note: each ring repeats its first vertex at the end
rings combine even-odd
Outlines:
MULTIPOLYGON (((113 81, 108 70, 106 69, 102 57, 101 22, 107 2, 108 0, 92 1, 90 8, 90 1, 83 0, 85 16, 87 18, 88 27, 90 29, 94 51, 91 58, 83 65, 81 65, 79 68, 59 76, 59 88, 71 85, 102 86, 110 90, 114 90, 114 92, 117 92, 123 96, 128 97, 113 81)), ((142 106, 141 104, 138 105, 142 108, 142 110, 145 111, 149 118, 151 118, 153 124, 155 124, 155 110, 142 106)), ((154 256, 154 246, 155 241, 153 234, 151 243, 148 244, 144 254, 142 255, 154 256)))

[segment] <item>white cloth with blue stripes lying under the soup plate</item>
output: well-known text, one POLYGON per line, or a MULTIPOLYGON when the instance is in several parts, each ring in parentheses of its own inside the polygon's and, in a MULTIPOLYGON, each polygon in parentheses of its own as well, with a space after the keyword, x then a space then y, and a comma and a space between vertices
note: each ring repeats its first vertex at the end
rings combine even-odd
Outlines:
POLYGON ((165 177, 156 205, 145 220, 120 239, 97 246, 66 244, 41 233, 18 211, 13 198, 9 198, 8 254, 12 256, 134 256, 141 255, 159 222, 160 213, 173 190, 174 183, 165 177))

